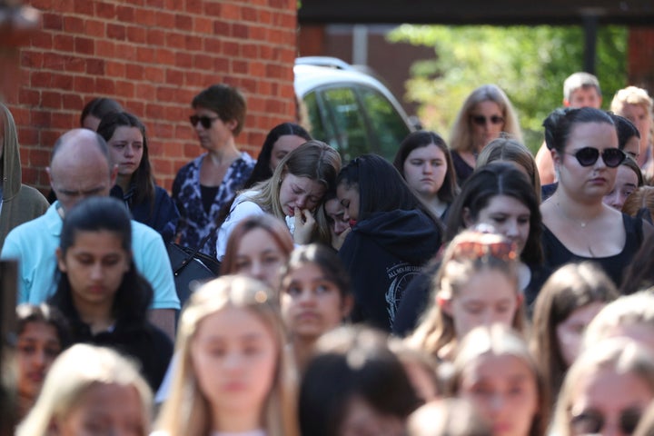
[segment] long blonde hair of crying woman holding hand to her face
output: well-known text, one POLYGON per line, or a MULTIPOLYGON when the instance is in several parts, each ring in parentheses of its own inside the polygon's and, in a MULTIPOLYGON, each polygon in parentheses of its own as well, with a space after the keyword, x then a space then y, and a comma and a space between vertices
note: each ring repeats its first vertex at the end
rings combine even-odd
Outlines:
POLYGON ((341 171, 341 155, 336 150, 322 141, 307 141, 284 156, 270 179, 252 187, 252 190, 257 193, 250 200, 257 203, 265 212, 272 213, 283 220, 286 213, 280 204, 280 185, 287 173, 296 177, 308 177, 322 184, 327 191, 336 183, 339 171, 341 171))

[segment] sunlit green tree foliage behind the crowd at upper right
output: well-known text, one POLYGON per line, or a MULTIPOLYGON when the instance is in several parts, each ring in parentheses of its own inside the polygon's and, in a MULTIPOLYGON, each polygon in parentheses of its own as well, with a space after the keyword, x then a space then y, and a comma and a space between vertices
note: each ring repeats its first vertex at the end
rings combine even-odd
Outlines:
MULTIPOLYGON (((407 98, 420 104, 427 129, 448 136, 461 104, 481 84, 498 84, 514 104, 527 145, 542 142, 542 120, 562 104, 563 81, 583 69, 580 26, 401 25, 391 42, 434 47, 434 57, 411 66, 407 98)), ((627 30, 601 27, 596 75, 608 108, 627 85, 627 30)))

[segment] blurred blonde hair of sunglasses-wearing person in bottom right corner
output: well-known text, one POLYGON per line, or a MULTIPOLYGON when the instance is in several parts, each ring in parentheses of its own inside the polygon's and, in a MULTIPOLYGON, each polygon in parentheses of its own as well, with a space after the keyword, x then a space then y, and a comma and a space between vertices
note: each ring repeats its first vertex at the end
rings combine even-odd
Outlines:
POLYGON ((633 373, 647 384, 654 396, 654 355, 636 342, 611 339, 595 343, 582 352, 570 366, 561 387, 550 434, 572 436, 570 431, 570 410, 573 394, 579 389, 580 381, 594 372, 610 370, 618 374, 633 373))

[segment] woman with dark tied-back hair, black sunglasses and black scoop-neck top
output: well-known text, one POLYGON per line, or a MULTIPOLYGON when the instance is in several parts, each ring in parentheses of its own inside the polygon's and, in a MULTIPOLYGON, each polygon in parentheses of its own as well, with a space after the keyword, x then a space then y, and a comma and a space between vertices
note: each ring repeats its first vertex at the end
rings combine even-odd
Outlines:
POLYGON ((542 245, 551 268, 592 261, 619 286, 651 226, 602 203, 625 159, 613 120, 590 107, 557 109, 543 123, 559 185, 540 206, 542 245))

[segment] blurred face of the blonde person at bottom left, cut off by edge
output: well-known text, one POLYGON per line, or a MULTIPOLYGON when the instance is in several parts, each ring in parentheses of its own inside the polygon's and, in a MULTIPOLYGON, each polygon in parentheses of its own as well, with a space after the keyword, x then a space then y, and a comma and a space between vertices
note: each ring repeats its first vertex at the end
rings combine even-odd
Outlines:
POLYGON ((96 383, 55 421, 56 436, 144 436, 144 410, 133 386, 96 383))

